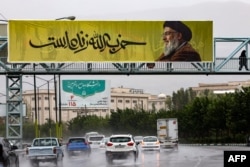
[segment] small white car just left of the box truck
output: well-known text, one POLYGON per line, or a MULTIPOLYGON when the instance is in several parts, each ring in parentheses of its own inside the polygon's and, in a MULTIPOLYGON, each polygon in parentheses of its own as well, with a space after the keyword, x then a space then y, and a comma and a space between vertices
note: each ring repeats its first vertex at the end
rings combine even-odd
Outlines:
POLYGON ((156 136, 145 136, 141 142, 141 150, 157 150, 160 151, 160 141, 156 136))

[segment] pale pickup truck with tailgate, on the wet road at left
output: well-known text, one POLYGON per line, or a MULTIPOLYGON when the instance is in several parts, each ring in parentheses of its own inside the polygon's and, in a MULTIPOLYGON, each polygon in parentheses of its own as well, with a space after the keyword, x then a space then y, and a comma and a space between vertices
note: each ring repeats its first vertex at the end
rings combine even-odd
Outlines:
POLYGON ((31 146, 26 148, 26 154, 31 166, 39 166, 40 162, 60 166, 64 157, 62 144, 56 137, 34 138, 31 146))

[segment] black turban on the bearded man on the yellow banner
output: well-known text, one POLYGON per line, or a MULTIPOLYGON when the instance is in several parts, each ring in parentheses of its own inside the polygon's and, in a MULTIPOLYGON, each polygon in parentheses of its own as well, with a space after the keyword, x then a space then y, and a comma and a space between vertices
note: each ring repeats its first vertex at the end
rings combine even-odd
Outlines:
POLYGON ((192 31, 181 21, 165 21, 163 24, 163 28, 165 27, 170 27, 175 31, 180 32, 185 41, 190 41, 192 39, 192 31))

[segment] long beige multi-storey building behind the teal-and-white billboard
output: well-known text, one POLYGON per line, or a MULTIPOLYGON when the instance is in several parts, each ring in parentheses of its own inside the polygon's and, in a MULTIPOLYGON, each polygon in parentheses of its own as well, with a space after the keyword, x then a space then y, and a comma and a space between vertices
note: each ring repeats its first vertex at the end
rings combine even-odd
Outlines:
POLYGON ((37 118, 39 124, 44 124, 47 120, 51 119, 59 121, 59 115, 61 115, 61 121, 69 121, 80 115, 97 115, 105 117, 116 112, 119 109, 137 109, 145 111, 159 111, 160 109, 166 109, 165 101, 166 95, 152 95, 144 93, 142 89, 134 88, 111 88, 111 97, 108 108, 94 108, 94 107, 71 107, 71 108, 59 108, 56 107, 56 99, 54 90, 39 89, 36 92, 37 104, 35 105, 35 96, 33 90, 23 91, 23 102, 26 104, 28 121, 35 121, 37 118), (60 114, 59 114, 60 113, 60 114))

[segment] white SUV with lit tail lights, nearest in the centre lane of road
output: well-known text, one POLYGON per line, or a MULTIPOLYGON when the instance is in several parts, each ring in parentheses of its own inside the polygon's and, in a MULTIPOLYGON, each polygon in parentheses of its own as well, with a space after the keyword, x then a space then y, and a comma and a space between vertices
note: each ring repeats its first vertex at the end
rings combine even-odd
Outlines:
POLYGON ((136 162, 139 151, 132 135, 117 134, 110 136, 105 155, 108 164, 112 164, 114 159, 127 159, 129 157, 132 157, 136 162))

